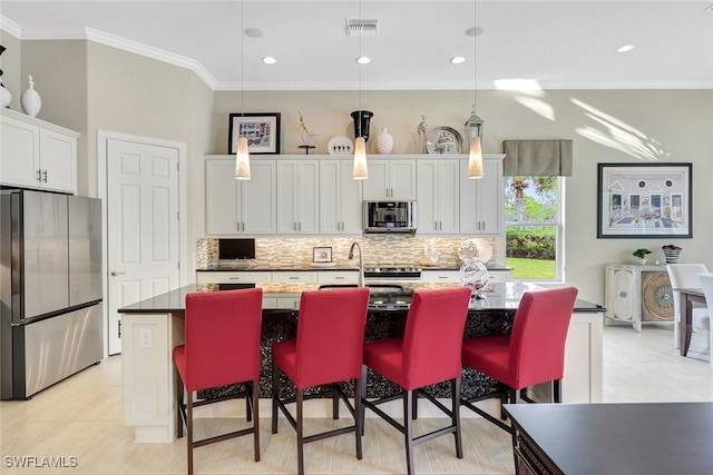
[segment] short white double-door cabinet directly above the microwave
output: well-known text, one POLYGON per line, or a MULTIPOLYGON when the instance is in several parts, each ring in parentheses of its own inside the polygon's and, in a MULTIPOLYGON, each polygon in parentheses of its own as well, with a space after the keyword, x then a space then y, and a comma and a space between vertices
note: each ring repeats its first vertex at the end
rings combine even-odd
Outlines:
POLYGON ((364 199, 416 199, 416 160, 369 159, 364 199))

